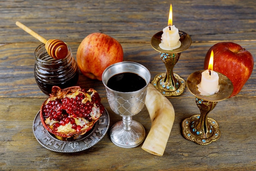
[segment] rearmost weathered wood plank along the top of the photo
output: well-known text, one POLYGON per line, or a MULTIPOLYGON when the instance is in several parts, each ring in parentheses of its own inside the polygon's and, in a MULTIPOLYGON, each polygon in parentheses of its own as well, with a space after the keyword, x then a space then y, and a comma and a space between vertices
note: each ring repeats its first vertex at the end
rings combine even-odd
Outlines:
MULTIPOLYGON (((59 38, 67 42, 80 42, 90 33, 103 32, 120 42, 149 42, 153 34, 166 26, 169 3, 3 1, 0 42, 36 42, 34 38, 16 27, 16 20, 27 24, 47 39, 59 38)), ((254 2, 172 3, 173 24, 189 33, 195 42, 256 40, 254 2)))

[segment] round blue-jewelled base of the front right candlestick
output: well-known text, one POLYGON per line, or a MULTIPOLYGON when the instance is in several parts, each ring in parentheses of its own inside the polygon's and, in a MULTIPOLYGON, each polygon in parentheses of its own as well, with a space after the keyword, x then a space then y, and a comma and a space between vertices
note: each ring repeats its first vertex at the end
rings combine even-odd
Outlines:
POLYGON ((182 122, 182 134, 187 140, 193 141, 200 145, 207 145, 220 138, 219 124, 212 118, 207 118, 210 124, 210 133, 212 134, 209 138, 203 138, 199 136, 199 132, 195 129, 194 123, 199 120, 200 115, 192 115, 190 118, 186 118, 182 122))

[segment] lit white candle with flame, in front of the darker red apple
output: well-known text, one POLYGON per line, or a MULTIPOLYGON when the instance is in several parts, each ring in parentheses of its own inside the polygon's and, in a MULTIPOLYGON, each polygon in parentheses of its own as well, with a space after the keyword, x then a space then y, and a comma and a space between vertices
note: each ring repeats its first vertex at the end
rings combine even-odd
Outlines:
POLYGON ((202 72, 201 82, 198 84, 198 91, 201 95, 213 95, 219 89, 219 76, 218 73, 213 71, 213 51, 211 51, 208 69, 202 72))

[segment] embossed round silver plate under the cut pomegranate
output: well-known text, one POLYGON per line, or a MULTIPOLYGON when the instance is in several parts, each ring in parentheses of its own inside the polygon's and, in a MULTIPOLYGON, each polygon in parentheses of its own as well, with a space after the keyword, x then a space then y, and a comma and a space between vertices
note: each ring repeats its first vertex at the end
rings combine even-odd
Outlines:
POLYGON ((40 120, 40 111, 38 111, 33 123, 33 132, 36 140, 46 149, 61 153, 74 153, 89 149, 97 144, 107 133, 109 124, 108 111, 105 109, 99 120, 88 133, 79 136, 73 141, 62 141, 43 127, 40 120))

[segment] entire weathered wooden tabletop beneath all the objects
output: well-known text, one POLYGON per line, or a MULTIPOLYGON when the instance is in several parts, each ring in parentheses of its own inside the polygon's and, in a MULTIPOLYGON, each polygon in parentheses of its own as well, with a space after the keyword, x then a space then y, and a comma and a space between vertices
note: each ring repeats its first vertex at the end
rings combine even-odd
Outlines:
MULTIPOLYGON (((0 170, 255 170, 256 71, 238 95, 219 102, 209 117, 220 125, 221 138, 203 146, 182 136, 181 122, 200 111, 186 88, 168 98, 175 121, 163 156, 135 147, 115 146, 108 133, 88 150, 58 153, 41 146, 32 125, 47 98, 34 79, 34 50, 38 40, 15 25, 16 21, 45 37, 67 42, 76 50, 85 36, 106 33, 124 49, 124 60, 143 64, 151 73, 165 72, 151 37, 167 25, 170 2, 164 0, 112 1, 1 1, 0 2, 0 170)), ((186 80, 203 69, 204 56, 217 42, 240 44, 256 56, 256 2, 239 0, 173 0, 173 24, 192 38, 174 72, 186 80)), ((254 64, 255 68, 255 64, 254 64)), ((110 115, 110 127, 121 117, 108 105, 101 81, 80 73, 77 83, 96 89, 110 115)), ((150 130, 146 107, 133 117, 150 130)))

